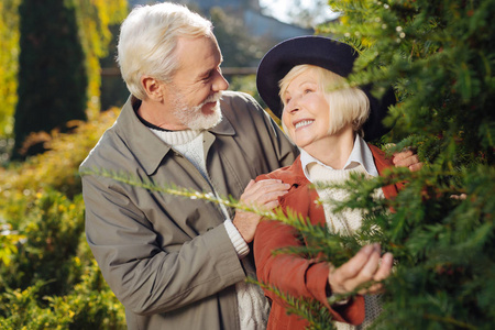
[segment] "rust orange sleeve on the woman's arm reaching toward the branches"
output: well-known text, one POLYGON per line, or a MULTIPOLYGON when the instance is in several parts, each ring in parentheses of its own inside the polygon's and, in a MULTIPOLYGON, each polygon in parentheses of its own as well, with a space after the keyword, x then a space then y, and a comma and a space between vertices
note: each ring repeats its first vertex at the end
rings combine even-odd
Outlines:
MULTIPOLYGON (((327 299, 329 267, 326 263, 294 254, 276 254, 274 251, 301 245, 298 232, 279 221, 263 220, 254 237, 254 260, 260 282, 272 285, 293 297, 317 299, 326 305, 334 320, 360 324, 364 319, 364 299, 355 297, 344 306, 332 308, 327 299)), ((272 300, 284 305, 275 294, 265 290, 272 300)))

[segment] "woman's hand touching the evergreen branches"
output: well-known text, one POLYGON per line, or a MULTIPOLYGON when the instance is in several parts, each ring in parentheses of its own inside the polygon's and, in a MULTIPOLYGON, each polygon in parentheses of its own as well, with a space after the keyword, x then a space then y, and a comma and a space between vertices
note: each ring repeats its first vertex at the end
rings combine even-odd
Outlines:
MULTIPOLYGON (((366 245, 339 268, 330 267, 328 276, 330 289, 333 295, 344 295, 371 280, 381 282, 391 275, 393 261, 392 253, 381 256, 380 244, 366 245)), ((381 290, 382 284, 375 283, 358 293, 360 295, 377 294, 381 290)))

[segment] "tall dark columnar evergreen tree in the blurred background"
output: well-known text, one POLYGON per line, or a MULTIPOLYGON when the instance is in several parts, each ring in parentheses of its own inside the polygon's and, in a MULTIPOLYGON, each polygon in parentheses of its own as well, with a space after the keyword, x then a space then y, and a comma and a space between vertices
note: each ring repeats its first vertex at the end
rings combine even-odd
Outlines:
MULTIPOLYGON (((88 78, 72 1, 23 0, 14 156, 31 132, 86 119, 88 78)), ((25 156, 25 152, 22 156, 25 156)))

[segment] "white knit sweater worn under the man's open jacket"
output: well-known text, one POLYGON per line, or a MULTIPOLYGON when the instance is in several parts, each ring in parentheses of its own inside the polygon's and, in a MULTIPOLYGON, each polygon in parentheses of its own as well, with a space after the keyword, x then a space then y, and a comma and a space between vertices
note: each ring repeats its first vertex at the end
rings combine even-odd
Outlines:
MULTIPOLYGON (((184 130, 184 131, 163 131, 157 129, 150 130, 158 136, 163 142, 170 145, 175 151, 180 153, 201 173, 205 179, 210 184, 211 189, 218 197, 218 193, 211 185, 205 162, 204 148, 204 131, 184 130)), ((224 205, 220 204, 220 208, 226 218, 223 226, 229 234, 232 244, 238 252, 238 256, 243 262, 244 256, 250 253, 250 249, 238 231, 224 205)), ((264 330, 268 320, 270 305, 260 286, 239 282, 235 284, 235 292, 239 304, 239 318, 241 329, 245 330, 264 330)))

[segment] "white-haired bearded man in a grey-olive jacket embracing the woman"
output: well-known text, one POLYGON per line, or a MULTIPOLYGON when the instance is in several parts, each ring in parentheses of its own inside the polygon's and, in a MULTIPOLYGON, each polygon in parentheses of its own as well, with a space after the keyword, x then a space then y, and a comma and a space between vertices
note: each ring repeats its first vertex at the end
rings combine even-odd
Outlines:
MULTIPOLYGON (((208 20, 185 7, 135 8, 118 62, 131 91, 81 164, 273 208, 288 186, 254 183, 297 148, 245 94, 224 91, 208 20)), ((417 163, 407 157, 403 165, 417 163)), ((260 217, 84 175, 86 233, 125 306, 129 329, 264 329, 268 305, 250 254, 260 217)))

